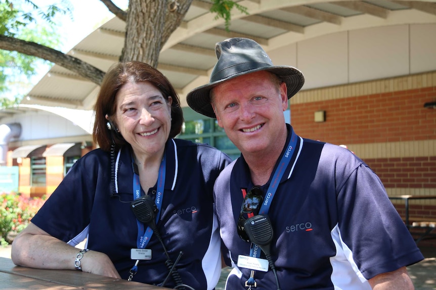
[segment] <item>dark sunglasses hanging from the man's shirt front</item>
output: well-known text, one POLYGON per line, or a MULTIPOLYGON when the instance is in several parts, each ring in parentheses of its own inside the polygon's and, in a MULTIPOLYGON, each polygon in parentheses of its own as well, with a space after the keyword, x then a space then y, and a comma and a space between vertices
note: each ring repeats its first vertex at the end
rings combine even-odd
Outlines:
POLYGON ((252 189, 250 189, 247 192, 247 194, 244 197, 244 201, 242 202, 241 212, 239 213, 239 219, 238 219, 238 235, 245 242, 250 241, 248 235, 245 233, 244 224, 245 221, 247 220, 247 218, 245 218, 245 215, 247 215, 248 218, 257 215, 259 213, 260 206, 263 201, 264 201, 264 193, 262 192, 259 186, 254 186, 252 189))

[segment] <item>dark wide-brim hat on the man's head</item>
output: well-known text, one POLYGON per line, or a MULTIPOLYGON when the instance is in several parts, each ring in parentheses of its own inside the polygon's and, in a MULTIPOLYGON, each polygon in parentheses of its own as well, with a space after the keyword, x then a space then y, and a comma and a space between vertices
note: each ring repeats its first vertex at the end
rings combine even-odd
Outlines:
POLYGON ((215 53, 218 61, 209 83, 193 89, 186 96, 188 105, 207 117, 216 118, 210 104, 210 90, 233 78, 259 71, 271 72, 286 83, 288 99, 304 84, 304 76, 299 70, 291 66, 274 66, 265 50, 254 40, 229 38, 216 43, 215 53))

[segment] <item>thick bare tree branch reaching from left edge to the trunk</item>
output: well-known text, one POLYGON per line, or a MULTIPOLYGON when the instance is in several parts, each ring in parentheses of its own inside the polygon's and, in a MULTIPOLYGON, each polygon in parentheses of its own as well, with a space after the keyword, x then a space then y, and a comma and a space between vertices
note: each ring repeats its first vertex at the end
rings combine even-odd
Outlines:
POLYGON ((37 44, 35 42, 29 42, 5 35, 0 35, 0 49, 17 51, 27 55, 39 57, 77 73, 97 85, 101 84, 105 75, 105 72, 88 63, 82 62, 76 57, 67 55, 61 51, 37 44))

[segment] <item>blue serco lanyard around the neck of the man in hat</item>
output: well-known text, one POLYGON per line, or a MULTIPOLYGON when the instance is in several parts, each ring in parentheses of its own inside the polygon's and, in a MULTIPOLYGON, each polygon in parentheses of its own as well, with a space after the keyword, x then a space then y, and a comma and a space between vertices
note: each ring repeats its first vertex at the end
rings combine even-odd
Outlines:
MULTIPOLYGON (((298 140, 298 136, 294 133, 294 130, 292 129, 291 138, 289 138, 287 148, 283 153, 282 158, 280 159, 279 165, 274 171, 273 179, 271 180, 271 184, 268 187, 267 194, 265 195, 264 198, 264 203, 260 206, 259 214, 268 213, 271 202, 273 201, 274 195, 276 194, 277 188, 279 187, 280 181, 282 180, 283 174, 286 168, 288 167, 289 162, 292 159, 292 155, 295 152, 294 149, 297 145, 297 140, 298 140)), ((296 162, 296 160, 297 159, 295 158, 294 162, 296 162)), ((251 248, 250 248, 251 257, 256 257, 256 258, 260 257, 260 252, 261 251, 258 250, 257 245, 251 244, 251 248)))

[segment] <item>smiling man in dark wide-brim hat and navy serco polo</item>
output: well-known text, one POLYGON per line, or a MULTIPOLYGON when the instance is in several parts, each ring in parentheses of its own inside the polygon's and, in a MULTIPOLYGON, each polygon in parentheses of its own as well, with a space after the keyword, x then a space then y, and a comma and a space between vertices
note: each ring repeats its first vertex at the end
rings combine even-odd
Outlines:
POLYGON ((375 173, 285 123, 301 72, 250 39, 215 52, 210 83, 187 101, 242 153, 214 187, 227 289, 413 289, 406 266, 423 256, 375 173))

